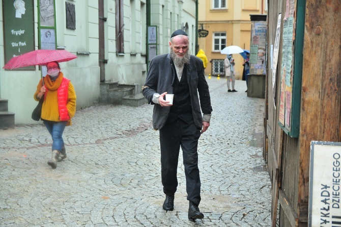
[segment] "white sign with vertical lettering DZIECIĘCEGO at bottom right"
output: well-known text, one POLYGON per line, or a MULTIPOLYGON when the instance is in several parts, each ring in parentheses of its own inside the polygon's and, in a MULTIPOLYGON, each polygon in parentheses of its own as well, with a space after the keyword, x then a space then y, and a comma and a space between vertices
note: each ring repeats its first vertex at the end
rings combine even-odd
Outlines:
POLYGON ((308 226, 341 226, 341 143, 311 141, 308 226))

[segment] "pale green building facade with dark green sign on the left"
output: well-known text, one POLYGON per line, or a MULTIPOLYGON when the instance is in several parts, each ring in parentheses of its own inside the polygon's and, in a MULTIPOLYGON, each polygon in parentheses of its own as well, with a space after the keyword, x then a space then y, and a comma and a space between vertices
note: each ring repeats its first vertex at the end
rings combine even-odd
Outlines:
POLYGON ((147 77, 148 57, 169 52, 168 41, 174 30, 185 30, 194 48, 195 9, 195 0, 3 1, 0 100, 8 100, 15 124, 36 123, 31 119, 37 105, 33 94, 46 74, 44 67, 5 70, 3 66, 12 56, 41 48, 66 49, 77 56, 60 63, 61 71, 75 87, 77 109, 101 100, 101 83, 140 88, 147 77), (21 17, 17 17, 19 3, 24 5, 18 13, 21 17), (149 49, 151 26, 156 28, 156 50, 149 49), (18 32, 12 34, 12 30, 18 32), (25 46, 13 47, 13 39, 25 46))

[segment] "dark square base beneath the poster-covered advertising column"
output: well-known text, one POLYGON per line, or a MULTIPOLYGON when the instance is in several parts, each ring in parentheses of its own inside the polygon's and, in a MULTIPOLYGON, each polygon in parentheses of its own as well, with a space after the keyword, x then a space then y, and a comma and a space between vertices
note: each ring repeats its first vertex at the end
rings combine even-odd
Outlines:
POLYGON ((247 75, 247 97, 265 98, 265 74, 247 75))

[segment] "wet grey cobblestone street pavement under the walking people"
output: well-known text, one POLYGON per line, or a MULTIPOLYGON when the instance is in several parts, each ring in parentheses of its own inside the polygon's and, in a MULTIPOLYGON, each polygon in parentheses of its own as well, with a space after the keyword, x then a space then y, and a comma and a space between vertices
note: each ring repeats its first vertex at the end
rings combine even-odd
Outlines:
MULTIPOLYGON (((64 132, 68 158, 51 169, 44 125, 0 130, 0 226, 271 226, 271 182, 262 158, 264 99, 245 81, 227 92, 208 78, 212 119, 199 142, 205 218, 187 218, 179 159, 174 211, 162 210, 152 106, 78 110, 64 132)), ((27 114, 31 114, 27 113, 27 114)))

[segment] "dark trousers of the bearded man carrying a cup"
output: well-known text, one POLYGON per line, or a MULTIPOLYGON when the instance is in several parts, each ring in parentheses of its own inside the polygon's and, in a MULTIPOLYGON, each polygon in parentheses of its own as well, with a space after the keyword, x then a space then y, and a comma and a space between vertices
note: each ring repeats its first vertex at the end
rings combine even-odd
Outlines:
POLYGON ((166 122, 160 129, 161 146, 161 178, 163 192, 173 195, 178 186, 177 169, 180 146, 186 175, 187 200, 200 204, 200 176, 197 154, 197 144, 200 130, 193 122, 187 123, 181 119, 166 122))

